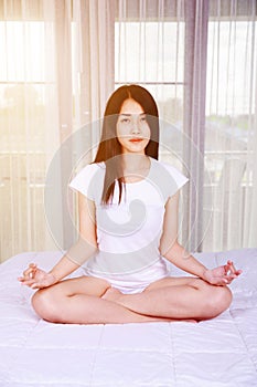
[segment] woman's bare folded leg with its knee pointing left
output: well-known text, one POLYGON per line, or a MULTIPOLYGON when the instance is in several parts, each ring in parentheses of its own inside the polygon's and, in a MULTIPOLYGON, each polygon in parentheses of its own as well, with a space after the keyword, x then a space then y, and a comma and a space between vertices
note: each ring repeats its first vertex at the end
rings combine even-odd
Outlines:
POLYGON ((65 280, 38 291, 32 304, 42 318, 55 323, 116 324, 172 321, 167 317, 142 315, 101 299, 109 286, 108 282, 101 279, 65 280))

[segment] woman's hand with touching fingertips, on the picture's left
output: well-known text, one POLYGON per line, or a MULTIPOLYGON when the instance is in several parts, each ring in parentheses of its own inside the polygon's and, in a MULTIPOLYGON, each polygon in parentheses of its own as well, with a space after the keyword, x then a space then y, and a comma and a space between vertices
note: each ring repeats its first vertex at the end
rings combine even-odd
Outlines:
POLYGON ((23 272, 23 276, 18 279, 23 285, 32 289, 43 289, 54 285, 58 281, 56 278, 39 269, 35 263, 31 263, 29 268, 23 272))

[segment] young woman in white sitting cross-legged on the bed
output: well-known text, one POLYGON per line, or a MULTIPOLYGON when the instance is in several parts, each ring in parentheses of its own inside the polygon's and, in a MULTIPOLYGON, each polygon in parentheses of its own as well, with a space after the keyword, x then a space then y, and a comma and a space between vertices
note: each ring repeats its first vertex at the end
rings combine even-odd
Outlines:
POLYGON ((179 189, 186 178, 158 161, 158 108, 139 85, 109 98, 95 161, 71 182, 79 239, 49 272, 19 280, 38 289, 35 312, 55 323, 99 324, 217 316, 232 301, 233 262, 207 269, 178 242, 179 189), (165 262, 185 272, 171 278, 165 262), (65 278, 83 265, 85 275, 65 278))

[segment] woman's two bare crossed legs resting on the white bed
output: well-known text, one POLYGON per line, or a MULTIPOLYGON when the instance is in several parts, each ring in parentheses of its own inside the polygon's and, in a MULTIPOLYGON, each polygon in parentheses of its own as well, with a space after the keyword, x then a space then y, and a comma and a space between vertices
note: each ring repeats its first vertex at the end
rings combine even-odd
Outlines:
POLYGON ((101 279, 78 278, 38 291, 32 304, 44 320, 69 324, 117 324, 212 318, 232 301, 226 286, 200 279, 169 278, 142 293, 122 294, 101 279))

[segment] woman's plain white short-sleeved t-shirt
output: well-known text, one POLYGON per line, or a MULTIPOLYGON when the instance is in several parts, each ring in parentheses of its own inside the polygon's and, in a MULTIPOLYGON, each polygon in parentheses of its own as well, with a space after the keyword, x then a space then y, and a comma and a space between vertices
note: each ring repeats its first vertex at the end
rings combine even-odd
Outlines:
POLYGON ((188 178, 169 164, 150 161, 144 179, 124 185, 120 203, 118 185, 113 203, 101 203, 105 163, 87 165, 69 184, 96 206, 98 252, 84 264, 89 275, 131 276, 157 262, 167 270, 159 251, 164 206, 188 178))

